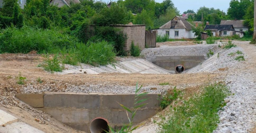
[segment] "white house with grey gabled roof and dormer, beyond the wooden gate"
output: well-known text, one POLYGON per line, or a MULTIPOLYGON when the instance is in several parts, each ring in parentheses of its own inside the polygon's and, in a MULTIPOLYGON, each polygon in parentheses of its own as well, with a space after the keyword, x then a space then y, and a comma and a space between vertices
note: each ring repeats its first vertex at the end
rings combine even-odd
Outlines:
POLYGON ((168 35, 169 39, 192 39, 196 38, 192 32, 193 25, 189 24, 183 17, 175 16, 171 21, 167 22, 158 29, 153 29, 158 35, 168 35))

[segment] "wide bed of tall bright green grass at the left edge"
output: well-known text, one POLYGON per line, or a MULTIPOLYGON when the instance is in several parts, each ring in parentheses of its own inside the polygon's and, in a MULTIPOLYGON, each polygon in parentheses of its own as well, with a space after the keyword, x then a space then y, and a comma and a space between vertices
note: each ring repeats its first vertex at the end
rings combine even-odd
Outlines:
POLYGON ((9 27, 0 31, 0 53, 55 53, 56 49, 69 48, 76 44, 77 39, 61 34, 58 29, 42 30, 23 27, 9 27))

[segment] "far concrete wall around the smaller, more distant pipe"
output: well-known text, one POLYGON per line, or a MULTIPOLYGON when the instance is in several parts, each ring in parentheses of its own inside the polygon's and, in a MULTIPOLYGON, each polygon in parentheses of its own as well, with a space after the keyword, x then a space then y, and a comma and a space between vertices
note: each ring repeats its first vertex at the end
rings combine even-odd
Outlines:
POLYGON ((204 56, 156 56, 156 61, 153 63, 166 70, 174 71, 179 64, 182 64, 185 69, 190 69, 203 60, 204 56))

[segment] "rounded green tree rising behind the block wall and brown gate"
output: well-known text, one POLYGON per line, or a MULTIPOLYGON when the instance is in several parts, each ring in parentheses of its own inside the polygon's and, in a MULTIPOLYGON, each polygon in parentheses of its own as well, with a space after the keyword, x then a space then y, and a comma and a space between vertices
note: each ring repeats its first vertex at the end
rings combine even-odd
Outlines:
POLYGON ((134 20, 134 24, 146 25, 146 29, 151 29, 154 26, 154 23, 146 10, 142 10, 140 14, 137 14, 134 20))

